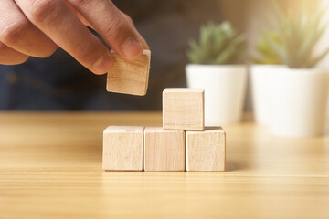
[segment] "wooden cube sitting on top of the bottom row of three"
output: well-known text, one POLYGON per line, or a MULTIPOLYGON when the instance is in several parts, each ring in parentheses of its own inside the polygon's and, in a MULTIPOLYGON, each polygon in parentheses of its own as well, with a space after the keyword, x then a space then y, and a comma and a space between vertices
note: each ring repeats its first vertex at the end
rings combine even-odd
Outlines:
POLYGON ((204 130, 205 90, 164 89, 164 130, 204 130))

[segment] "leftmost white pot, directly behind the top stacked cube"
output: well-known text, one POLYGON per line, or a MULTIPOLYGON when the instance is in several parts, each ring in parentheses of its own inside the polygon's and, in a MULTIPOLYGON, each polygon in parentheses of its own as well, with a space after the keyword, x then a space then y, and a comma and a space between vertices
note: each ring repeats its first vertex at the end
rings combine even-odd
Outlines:
POLYGON ((205 89, 205 124, 218 126, 241 119, 246 96, 245 65, 186 66, 188 88, 205 89))

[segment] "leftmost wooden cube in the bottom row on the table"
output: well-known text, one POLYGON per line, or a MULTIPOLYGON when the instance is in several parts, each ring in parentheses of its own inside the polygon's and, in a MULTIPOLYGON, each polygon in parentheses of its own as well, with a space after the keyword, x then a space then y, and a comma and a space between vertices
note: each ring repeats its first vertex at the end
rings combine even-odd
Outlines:
POLYGON ((143 127, 109 126, 103 132, 102 168, 143 171, 143 127))

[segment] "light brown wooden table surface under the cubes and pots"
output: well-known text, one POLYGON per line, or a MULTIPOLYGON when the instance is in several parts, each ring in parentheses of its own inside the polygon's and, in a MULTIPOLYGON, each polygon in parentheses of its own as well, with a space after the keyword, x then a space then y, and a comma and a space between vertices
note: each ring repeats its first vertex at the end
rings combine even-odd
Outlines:
POLYGON ((153 113, 0 113, 0 218, 329 218, 329 135, 224 127, 227 172, 103 172, 108 125, 153 113))

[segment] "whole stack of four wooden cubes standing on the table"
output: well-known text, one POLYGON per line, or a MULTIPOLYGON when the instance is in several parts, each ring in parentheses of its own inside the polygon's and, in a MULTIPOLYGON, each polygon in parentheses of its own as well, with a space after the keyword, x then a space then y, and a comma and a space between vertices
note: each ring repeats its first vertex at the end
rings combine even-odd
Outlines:
POLYGON ((203 89, 164 89, 163 127, 110 126, 103 169, 145 172, 225 171, 225 132, 205 128, 203 89))

